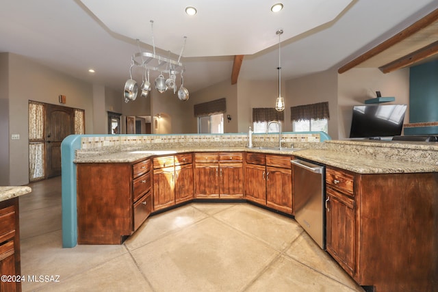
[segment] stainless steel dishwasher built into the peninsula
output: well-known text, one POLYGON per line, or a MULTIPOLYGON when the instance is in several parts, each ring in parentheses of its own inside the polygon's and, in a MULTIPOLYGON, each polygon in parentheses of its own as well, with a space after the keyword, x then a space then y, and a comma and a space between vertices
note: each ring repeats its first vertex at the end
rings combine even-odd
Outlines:
POLYGON ((300 159, 290 162, 295 220, 325 250, 325 166, 300 159))

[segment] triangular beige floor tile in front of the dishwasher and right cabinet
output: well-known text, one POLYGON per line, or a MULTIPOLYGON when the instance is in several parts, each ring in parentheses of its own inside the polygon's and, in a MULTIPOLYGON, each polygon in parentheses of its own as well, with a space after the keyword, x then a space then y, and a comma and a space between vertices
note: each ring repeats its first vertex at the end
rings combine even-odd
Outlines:
POLYGON ((346 274, 326 251, 321 250, 318 244, 307 233, 302 233, 302 236, 292 243, 286 254, 330 278, 357 289, 357 284, 352 278, 346 274))

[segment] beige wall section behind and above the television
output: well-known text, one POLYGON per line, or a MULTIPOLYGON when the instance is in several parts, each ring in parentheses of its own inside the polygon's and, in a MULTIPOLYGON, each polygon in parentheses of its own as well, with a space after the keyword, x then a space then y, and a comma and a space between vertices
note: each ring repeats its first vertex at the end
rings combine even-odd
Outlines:
POLYGON ((377 68, 353 68, 338 76, 339 139, 350 137, 353 105, 363 105, 366 99, 394 96, 396 101, 387 104, 408 105, 404 123, 409 121, 409 68, 383 74, 377 68))

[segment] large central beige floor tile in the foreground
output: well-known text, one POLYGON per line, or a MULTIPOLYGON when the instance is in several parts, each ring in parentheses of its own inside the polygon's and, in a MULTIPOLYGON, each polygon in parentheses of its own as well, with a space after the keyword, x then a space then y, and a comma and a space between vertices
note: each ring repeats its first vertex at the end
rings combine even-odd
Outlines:
POLYGON ((279 253, 210 217, 131 254, 156 291, 241 291, 279 253))

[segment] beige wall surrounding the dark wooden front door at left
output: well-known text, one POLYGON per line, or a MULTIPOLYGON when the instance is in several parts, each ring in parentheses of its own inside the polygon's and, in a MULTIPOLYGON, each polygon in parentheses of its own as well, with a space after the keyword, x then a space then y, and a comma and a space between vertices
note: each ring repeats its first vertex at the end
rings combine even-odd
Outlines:
POLYGON ((9 131, 20 140, 10 140, 10 181, 8 185, 29 183, 28 102, 59 104, 66 96, 66 106, 85 109, 86 133, 93 133, 92 85, 56 72, 26 57, 5 53, 9 59, 9 131))

